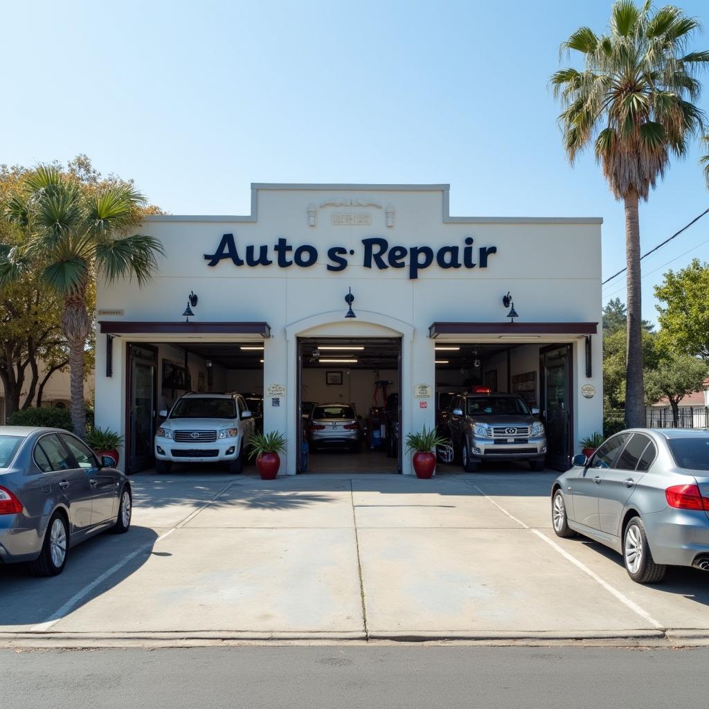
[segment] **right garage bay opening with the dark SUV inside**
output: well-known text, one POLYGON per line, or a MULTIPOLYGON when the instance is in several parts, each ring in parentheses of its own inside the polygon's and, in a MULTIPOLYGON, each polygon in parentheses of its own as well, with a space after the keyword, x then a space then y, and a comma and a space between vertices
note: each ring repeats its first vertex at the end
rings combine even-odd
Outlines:
POLYGON ((436 340, 441 471, 569 468, 573 345, 530 340, 436 340))

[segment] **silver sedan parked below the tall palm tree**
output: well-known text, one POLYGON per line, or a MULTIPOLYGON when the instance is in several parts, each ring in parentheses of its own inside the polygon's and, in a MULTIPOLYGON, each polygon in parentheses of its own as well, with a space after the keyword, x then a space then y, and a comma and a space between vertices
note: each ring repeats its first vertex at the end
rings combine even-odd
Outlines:
POLYGON ((623 554, 640 584, 669 565, 709 571, 709 432, 625 430, 576 456, 554 481, 552 523, 623 554))

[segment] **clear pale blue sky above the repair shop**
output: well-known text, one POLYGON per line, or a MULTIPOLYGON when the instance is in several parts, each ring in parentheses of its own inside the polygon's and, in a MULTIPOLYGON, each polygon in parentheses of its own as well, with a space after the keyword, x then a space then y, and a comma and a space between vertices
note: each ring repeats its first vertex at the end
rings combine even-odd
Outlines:
MULTIPOLYGON (((709 25, 706 0, 676 4, 709 25)), ((194 214, 248 213, 251 182, 450 182, 454 215, 602 216, 608 277, 625 264, 623 207, 592 155, 566 163, 547 81, 559 43, 603 31, 610 5, 6 3, 0 162, 86 152, 194 214)), ((709 48, 709 33, 695 44, 709 48)), ((643 252, 709 206, 699 155, 642 206, 643 252)), ((644 260, 646 318, 652 286, 708 259, 705 240, 709 216, 644 260)), ((623 279, 603 293, 625 300, 623 279)))

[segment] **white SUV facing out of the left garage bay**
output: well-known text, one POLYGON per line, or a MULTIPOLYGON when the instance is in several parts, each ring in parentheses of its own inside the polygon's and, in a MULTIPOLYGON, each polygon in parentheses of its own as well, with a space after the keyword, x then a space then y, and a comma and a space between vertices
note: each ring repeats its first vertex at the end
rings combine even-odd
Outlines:
POLYGON ((181 396, 155 433, 155 470, 169 473, 173 463, 228 462, 240 473, 255 421, 244 398, 235 393, 181 396))

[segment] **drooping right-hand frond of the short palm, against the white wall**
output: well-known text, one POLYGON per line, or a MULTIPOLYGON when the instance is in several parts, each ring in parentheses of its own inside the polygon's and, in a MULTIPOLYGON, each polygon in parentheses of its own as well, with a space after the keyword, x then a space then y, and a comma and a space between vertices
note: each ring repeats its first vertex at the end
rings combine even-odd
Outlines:
POLYGON ((142 286, 157 271, 157 255, 165 254, 160 240, 143 234, 96 243, 96 266, 108 281, 129 278, 142 286))

